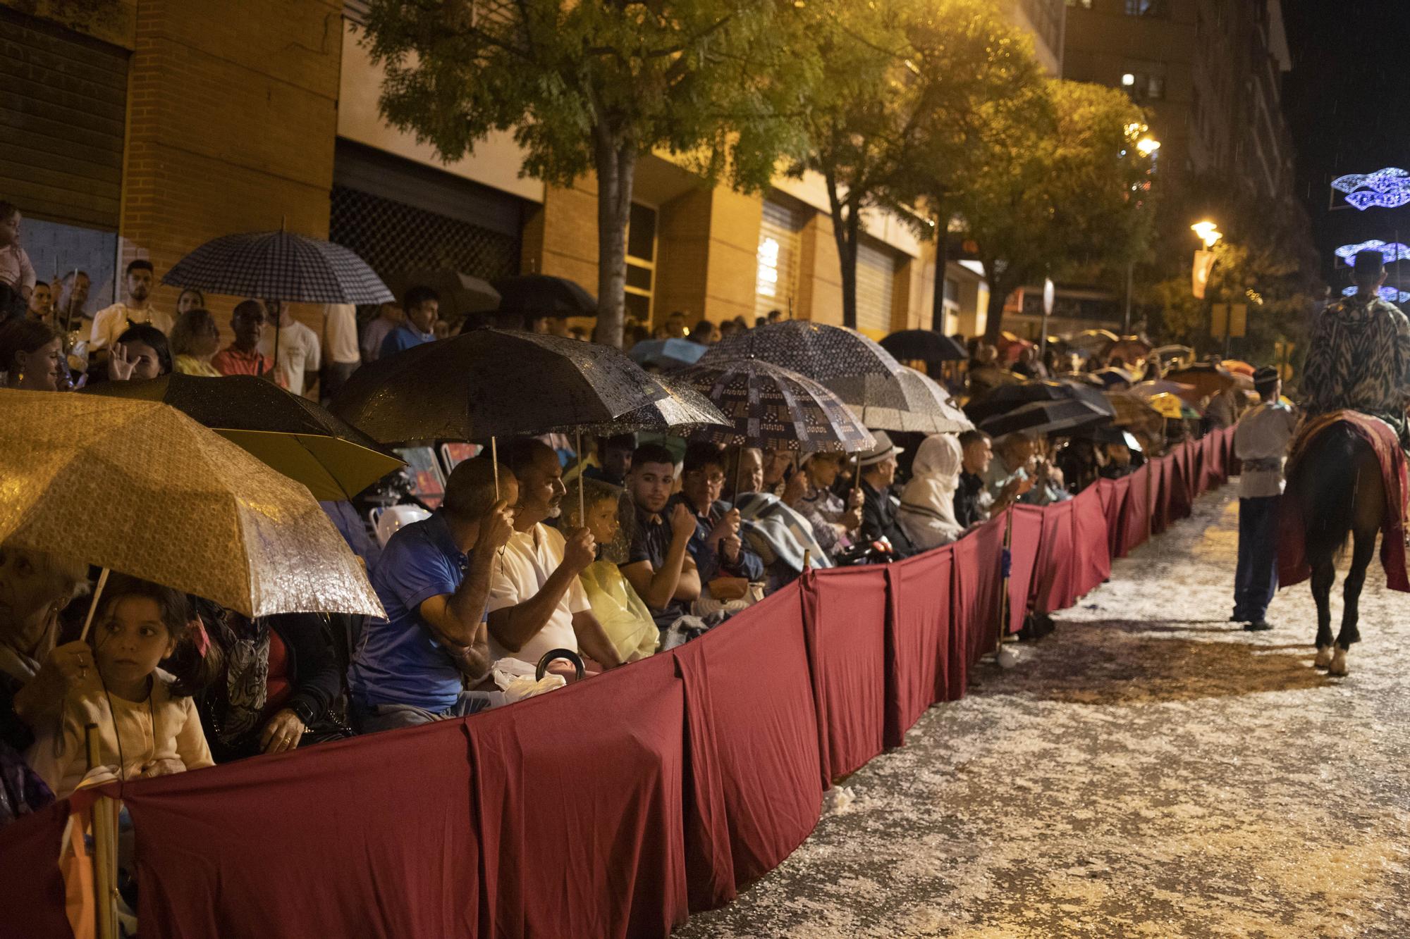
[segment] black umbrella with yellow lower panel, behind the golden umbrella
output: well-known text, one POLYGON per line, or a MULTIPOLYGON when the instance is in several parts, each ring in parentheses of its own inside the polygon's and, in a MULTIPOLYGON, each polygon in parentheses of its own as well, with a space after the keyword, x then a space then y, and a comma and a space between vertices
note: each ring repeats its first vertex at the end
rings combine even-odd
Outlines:
POLYGON ((171 405, 302 482, 316 499, 350 499, 403 465, 357 427, 254 375, 172 374, 102 382, 85 393, 171 405))

